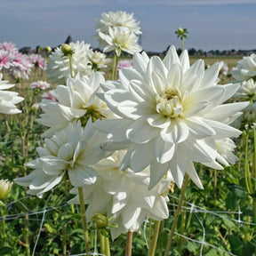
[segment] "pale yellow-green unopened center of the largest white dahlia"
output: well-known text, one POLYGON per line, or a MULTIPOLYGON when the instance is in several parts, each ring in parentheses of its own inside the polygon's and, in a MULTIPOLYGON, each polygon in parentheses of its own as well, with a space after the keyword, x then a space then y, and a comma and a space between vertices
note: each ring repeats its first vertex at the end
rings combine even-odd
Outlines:
POLYGON ((179 90, 169 89, 156 94, 156 112, 164 116, 178 117, 183 111, 179 90))

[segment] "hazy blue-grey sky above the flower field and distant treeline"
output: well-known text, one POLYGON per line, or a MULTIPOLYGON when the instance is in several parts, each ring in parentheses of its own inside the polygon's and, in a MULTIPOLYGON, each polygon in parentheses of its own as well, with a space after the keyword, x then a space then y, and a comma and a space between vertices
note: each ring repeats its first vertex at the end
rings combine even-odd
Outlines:
POLYGON ((56 47, 68 35, 97 47, 95 20, 125 11, 140 21, 145 51, 180 48, 175 31, 188 29, 186 49, 256 49, 256 0, 0 0, 0 43, 56 47))

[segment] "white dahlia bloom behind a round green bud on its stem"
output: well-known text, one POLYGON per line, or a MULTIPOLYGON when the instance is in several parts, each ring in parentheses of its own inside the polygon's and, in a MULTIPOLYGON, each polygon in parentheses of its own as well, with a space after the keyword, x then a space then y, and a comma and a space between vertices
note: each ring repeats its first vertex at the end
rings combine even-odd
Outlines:
MULTIPOLYGON (((84 44, 84 41, 69 44, 73 54, 71 57, 72 76, 91 76, 92 63, 88 59, 90 44, 84 44)), ((50 63, 47 72, 52 79, 52 83, 66 84, 68 76, 70 76, 69 57, 65 56, 61 47, 55 49, 50 55, 50 63)))

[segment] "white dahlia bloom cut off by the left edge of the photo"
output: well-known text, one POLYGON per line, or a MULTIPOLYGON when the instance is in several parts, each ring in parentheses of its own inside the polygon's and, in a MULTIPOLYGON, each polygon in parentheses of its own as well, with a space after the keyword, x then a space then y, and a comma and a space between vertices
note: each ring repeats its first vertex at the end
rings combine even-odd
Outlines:
POLYGON ((15 106, 24 100, 18 96, 18 92, 2 91, 10 89, 14 84, 7 84, 8 81, 4 81, 3 74, 0 73, 0 113, 2 114, 18 114, 21 111, 15 106))

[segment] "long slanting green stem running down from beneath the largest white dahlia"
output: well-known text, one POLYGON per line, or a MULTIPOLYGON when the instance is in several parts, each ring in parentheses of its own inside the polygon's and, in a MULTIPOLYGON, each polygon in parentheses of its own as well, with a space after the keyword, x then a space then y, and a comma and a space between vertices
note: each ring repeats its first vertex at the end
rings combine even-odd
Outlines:
POLYGON ((171 248, 171 245, 172 245, 172 238, 173 238, 174 230, 175 230, 175 228, 176 228, 177 221, 178 221, 178 218, 179 218, 179 213, 180 213, 180 209, 181 209, 181 204, 182 204, 182 202, 183 202, 184 195, 185 195, 185 191, 186 191, 186 188, 187 188, 187 186, 188 186, 188 178, 189 178, 189 177, 188 177, 188 174, 185 174, 184 183, 183 183, 183 186, 182 186, 182 188, 181 188, 181 194, 180 194, 179 204, 178 204, 177 210, 176 210, 175 215, 174 215, 174 220, 173 220, 173 222, 172 222, 171 234, 170 234, 170 237, 169 237, 167 246, 166 246, 166 248, 165 248, 164 256, 168 256, 168 253, 169 253, 170 248, 171 248))

